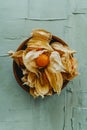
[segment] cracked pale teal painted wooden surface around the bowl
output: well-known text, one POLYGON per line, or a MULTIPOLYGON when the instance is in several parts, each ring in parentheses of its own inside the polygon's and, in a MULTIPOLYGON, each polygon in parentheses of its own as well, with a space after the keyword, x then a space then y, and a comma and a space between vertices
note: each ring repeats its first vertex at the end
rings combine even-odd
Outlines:
POLYGON ((0 130, 87 130, 87 0, 0 0, 0 55, 43 28, 77 51, 79 76, 58 95, 34 100, 0 57, 0 130))

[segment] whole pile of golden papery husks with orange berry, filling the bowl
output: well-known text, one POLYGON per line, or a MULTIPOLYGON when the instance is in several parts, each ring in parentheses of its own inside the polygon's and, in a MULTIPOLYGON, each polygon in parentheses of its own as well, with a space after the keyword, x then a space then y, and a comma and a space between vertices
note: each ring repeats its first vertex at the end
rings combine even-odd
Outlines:
POLYGON ((78 75, 75 50, 59 42, 51 42, 46 30, 33 30, 25 50, 10 51, 9 55, 21 68, 23 84, 34 97, 60 93, 63 83, 78 75), (51 43, 51 44, 50 44, 51 43))

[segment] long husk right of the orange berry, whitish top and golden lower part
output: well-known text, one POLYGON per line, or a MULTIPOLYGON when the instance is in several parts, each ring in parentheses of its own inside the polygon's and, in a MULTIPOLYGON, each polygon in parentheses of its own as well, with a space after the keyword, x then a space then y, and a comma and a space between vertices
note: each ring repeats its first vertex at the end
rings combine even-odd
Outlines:
POLYGON ((60 93, 63 85, 61 72, 65 72, 64 66, 58 52, 54 51, 50 55, 50 63, 45 69, 45 74, 54 92, 60 93))

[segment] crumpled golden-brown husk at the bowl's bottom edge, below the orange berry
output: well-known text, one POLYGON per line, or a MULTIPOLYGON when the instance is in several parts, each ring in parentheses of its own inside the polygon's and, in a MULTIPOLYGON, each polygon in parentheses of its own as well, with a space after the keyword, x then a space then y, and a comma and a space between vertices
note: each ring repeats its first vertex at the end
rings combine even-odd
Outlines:
POLYGON ((44 98, 45 95, 52 95, 52 87, 50 87, 49 81, 46 77, 45 72, 40 72, 39 77, 34 73, 29 72, 28 75, 24 75, 22 78, 24 85, 28 85, 30 88, 30 94, 35 98, 41 96, 44 98))

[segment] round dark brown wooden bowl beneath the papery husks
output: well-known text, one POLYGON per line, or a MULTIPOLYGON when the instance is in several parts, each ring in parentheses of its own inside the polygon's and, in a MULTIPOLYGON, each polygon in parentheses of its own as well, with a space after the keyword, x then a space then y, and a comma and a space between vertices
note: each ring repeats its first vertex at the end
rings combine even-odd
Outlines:
MULTIPOLYGON (((30 38, 31 38, 31 37, 30 37, 30 38)), ((19 45, 17 51, 19 51, 19 50, 25 50, 26 47, 27 47, 26 44, 27 44, 27 42, 28 42, 28 40, 29 40, 30 38, 28 38, 28 39, 26 39, 25 41, 23 41, 23 42, 19 45)), ((60 39, 59 37, 56 37, 56 36, 52 36, 51 42, 60 42, 62 45, 67 45, 62 39, 60 39)), ((68 46, 68 45, 67 45, 67 46, 68 46)), ((18 67, 18 65, 16 64, 16 62, 15 62, 14 60, 13 60, 13 72, 14 72, 15 79, 16 79, 16 81, 18 82, 18 84, 20 85, 20 87, 22 87, 25 91, 29 92, 29 86, 23 85, 23 82, 22 82, 22 80, 21 80, 21 78, 23 77, 22 71, 21 71, 21 69, 18 67)), ((69 82, 69 81, 66 80, 66 81, 63 83, 62 89, 66 87, 66 85, 67 85, 68 82, 69 82)))

